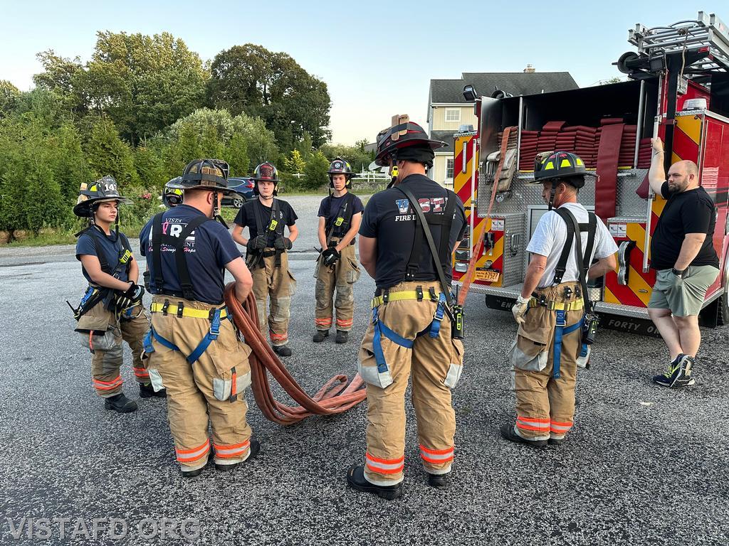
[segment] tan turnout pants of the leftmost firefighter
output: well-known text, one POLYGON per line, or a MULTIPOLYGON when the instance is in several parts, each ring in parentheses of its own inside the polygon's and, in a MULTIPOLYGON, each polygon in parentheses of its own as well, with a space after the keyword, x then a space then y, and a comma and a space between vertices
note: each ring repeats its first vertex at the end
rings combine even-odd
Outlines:
POLYGON ((114 313, 104 309, 104 303, 99 302, 79 319, 77 331, 80 331, 82 344, 92 354, 91 376, 96 394, 108 398, 122 392, 122 341, 126 341, 132 349, 132 369, 136 381, 149 382, 149 374, 141 358, 144 336, 148 330, 149 313, 142 304, 125 309, 117 321, 114 313), (91 331, 105 333, 101 335, 91 331))

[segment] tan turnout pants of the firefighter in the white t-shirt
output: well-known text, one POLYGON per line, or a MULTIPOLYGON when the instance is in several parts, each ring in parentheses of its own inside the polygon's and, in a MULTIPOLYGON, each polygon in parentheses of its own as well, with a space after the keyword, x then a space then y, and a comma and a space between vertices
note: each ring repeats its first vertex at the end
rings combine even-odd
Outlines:
MULTIPOLYGON (((558 304, 580 303, 575 295, 577 282, 537 290, 545 301, 558 304), (569 288, 571 295, 565 295, 569 288)), ((583 309, 564 311, 564 333, 559 351, 559 377, 555 378, 555 339, 558 338, 558 311, 547 306, 530 307, 525 323, 519 326, 509 352, 513 366, 516 393, 515 432, 526 440, 561 439, 572 428, 574 418, 574 385, 577 379, 577 357, 582 349, 583 309)))

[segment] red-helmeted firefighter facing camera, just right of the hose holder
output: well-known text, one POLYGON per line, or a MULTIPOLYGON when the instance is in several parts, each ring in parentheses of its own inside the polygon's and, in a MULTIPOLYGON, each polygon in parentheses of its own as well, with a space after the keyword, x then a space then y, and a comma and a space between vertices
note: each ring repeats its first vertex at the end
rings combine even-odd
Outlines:
POLYGON ((246 264, 253 276, 253 295, 258 308, 258 325, 268 335, 276 355, 291 356, 289 342, 289 319, 291 298, 296 290, 296 280, 289 271, 289 256, 293 242, 298 237, 298 218, 286 201, 276 199, 278 195, 278 170, 270 162, 256 167, 253 174, 253 192, 257 199, 243 204, 235 216, 233 239, 246 247, 246 264), (249 238, 243 237, 243 228, 248 227, 249 238), (289 237, 284 237, 284 226, 289 228, 289 237), (270 314, 266 316, 266 300, 270 298, 270 314))

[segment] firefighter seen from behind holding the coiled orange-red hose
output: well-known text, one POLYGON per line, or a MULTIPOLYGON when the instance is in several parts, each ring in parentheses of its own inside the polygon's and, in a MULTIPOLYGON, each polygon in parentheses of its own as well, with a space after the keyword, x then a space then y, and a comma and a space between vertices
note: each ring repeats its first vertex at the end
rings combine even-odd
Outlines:
POLYGON ((225 269, 235 279, 240 301, 252 286, 227 227, 213 219, 219 218, 227 192, 227 173, 227 163, 219 159, 190 162, 176 186, 184 203, 155 215, 139 234, 153 294, 145 340, 149 377, 155 389, 167 389, 176 459, 186 478, 203 471, 211 448, 221 471, 260 450, 246 422, 243 396, 251 384, 251 349, 223 303, 225 269))

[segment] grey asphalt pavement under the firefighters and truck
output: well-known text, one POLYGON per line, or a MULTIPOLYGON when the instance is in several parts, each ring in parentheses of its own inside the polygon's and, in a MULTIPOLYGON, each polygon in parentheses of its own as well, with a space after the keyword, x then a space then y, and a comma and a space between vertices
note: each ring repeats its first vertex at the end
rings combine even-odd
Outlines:
MULTIPOLYGON (((302 235, 285 363, 308 392, 355 373, 374 290, 363 274, 348 344, 311 342, 319 199, 290 199, 302 235)), ((667 365, 660 339, 600 331, 578 376, 574 430, 532 450, 498 431, 514 419, 504 355, 515 324, 472 293, 451 487, 426 485, 408 400, 405 490, 387 502, 346 487, 346 468, 364 459, 364 405, 281 427, 248 393, 258 458, 182 478, 165 400, 139 400, 128 348, 122 377, 139 411, 105 411, 93 392, 65 303, 85 288, 72 247, 0 248, 0 286, 1 545, 729 544, 728 328, 703 330, 696 384, 678 391, 650 382, 667 365)))

